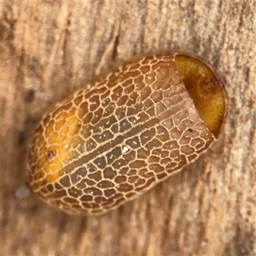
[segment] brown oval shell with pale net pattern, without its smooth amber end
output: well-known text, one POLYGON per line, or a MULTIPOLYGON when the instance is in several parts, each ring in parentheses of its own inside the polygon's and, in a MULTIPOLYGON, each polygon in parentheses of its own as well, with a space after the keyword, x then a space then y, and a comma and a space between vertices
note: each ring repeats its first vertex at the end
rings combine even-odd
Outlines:
MULTIPOLYGON (((217 128, 205 124, 178 72, 182 56, 132 60, 45 113, 29 146, 30 188, 68 214, 103 214, 195 161, 218 138, 225 111, 217 128)), ((218 79, 207 79, 215 88, 218 79)))

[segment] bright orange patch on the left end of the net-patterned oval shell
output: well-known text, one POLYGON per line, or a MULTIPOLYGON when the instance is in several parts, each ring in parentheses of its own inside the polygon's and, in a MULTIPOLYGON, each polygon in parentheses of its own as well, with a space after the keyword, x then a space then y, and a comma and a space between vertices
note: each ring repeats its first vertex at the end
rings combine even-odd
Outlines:
POLYGON ((81 128, 77 109, 60 107, 51 116, 54 119, 49 120, 49 116, 45 116, 35 130, 32 143, 38 147, 33 149, 33 154, 29 152, 31 173, 35 173, 29 177, 35 190, 58 180, 65 164, 76 156, 70 147, 77 147, 76 136, 81 128))

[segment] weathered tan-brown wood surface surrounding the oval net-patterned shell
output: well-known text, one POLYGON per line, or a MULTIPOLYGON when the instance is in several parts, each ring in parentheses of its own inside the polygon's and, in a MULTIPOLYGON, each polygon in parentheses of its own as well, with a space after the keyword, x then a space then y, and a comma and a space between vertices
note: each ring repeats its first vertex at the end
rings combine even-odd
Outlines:
POLYGON ((255 255, 255 2, 1 2, 1 255, 255 255), (13 191, 45 109, 131 56, 201 56, 226 84, 223 135, 199 161, 104 216, 13 191))

